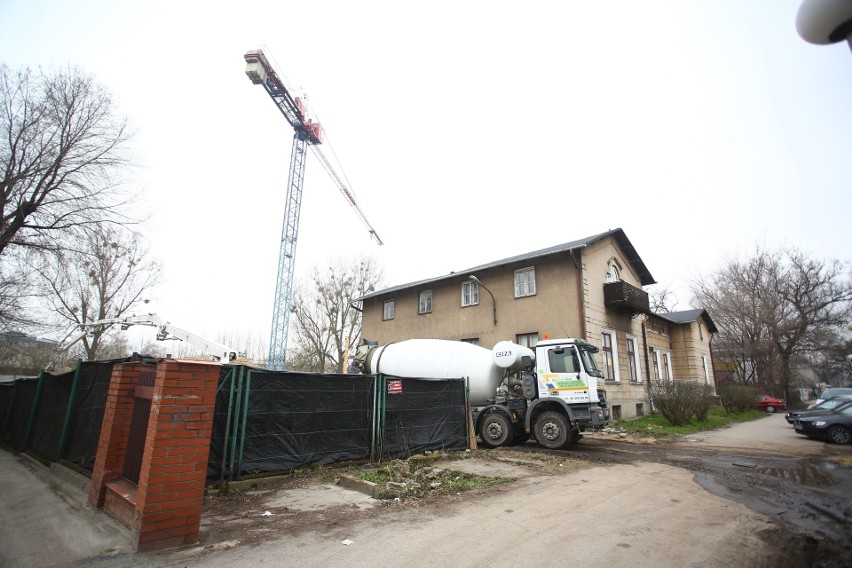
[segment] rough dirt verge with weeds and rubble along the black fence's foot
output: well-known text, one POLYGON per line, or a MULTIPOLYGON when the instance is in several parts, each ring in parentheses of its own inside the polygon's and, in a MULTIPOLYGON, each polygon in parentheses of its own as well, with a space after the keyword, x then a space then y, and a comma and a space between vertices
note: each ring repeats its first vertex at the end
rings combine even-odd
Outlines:
POLYGON ((437 469, 498 478, 500 484, 473 490, 484 497, 504 489, 504 483, 512 485, 537 476, 563 475, 593 465, 564 456, 533 455, 511 449, 434 452, 426 457, 420 465, 407 468, 406 475, 395 476, 397 483, 420 483, 425 487, 405 492, 401 497, 373 499, 339 485, 341 475, 356 476, 361 472, 381 469, 370 465, 329 467, 298 476, 258 479, 256 486, 242 491, 211 490, 205 499, 201 542, 238 540, 241 544, 258 544, 282 532, 327 530, 359 519, 412 508, 428 512, 459 500, 461 491, 450 491, 446 483, 429 489, 422 477, 416 475, 418 470, 437 469))

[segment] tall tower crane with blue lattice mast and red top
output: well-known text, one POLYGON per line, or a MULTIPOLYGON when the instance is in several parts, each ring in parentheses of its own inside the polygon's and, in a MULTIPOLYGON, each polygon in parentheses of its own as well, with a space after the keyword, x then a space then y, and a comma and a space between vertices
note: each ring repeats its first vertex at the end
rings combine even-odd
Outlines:
POLYGON ((275 281, 275 305, 272 312, 272 333, 269 338, 269 361, 271 370, 283 371, 287 352, 287 336, 290 327, 290 306, 293 294, 293 269, 296 259, 296 241, 299 233, 299 212, 302 206, 302 187, 305 181, 306 149, 311 148, 325 170, 331 176, 337 188, 349 202, 358 217, 370 231, 370 236, 378 244, 384 244, 378 233, 352 193, 338 175, 331 162, 320 150, 323 142, 323 129, 319 122, 308 116, 305 101, 288 89, 263 51, 249 51, 245 54, 246 75, 255 85, 263 85, 266 92, 290 126, 295 131, 290 153, 290 172, 287 182, 287 202, 284 213, 284 225, 281 229, 281 248, 278 255, 278 276, 275 281))

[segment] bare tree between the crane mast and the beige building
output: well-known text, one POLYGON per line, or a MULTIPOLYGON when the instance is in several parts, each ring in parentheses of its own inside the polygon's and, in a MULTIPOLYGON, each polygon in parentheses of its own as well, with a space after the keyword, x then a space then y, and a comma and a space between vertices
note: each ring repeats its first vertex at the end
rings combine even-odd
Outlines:
POLYGON ((347 340, 354 347, 361 337, 361 312, 353 303, 375 290, 381 279, 370 257, 337 259, 324 273, 314 268, 309 282, 300 283, 294 294, 296 344, 288 353, 288 369, 345 372, 347 340))

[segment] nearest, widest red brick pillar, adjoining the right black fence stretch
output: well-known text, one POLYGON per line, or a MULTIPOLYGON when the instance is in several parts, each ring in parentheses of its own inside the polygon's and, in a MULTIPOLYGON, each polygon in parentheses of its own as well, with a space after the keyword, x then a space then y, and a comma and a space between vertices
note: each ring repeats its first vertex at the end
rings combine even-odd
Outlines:
POLYGON ((221 365, 161 360, 131 529, 138 551, 198 541, 221 365))

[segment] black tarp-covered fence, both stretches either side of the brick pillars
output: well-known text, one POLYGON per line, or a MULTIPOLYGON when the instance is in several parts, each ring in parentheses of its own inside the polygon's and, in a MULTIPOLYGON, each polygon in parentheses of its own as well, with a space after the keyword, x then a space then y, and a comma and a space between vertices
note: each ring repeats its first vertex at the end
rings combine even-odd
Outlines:
MULTIPOLYGON (((0 443, 91 474, 116 364, 79 362, 0 386, 0 443)), ((272 372, 225 365, 207 476, 239 479, 468 445, 464 379, 272 372)))

